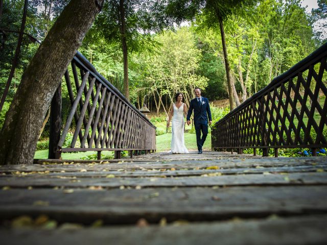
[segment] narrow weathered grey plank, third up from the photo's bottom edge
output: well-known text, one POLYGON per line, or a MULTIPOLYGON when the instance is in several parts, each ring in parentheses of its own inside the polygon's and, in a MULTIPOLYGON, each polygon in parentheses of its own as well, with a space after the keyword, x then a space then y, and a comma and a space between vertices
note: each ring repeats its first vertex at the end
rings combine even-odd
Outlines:
POLYGON ((107 188, 119 188, 120 186, 141 187, 196 187, 196 186, 241 186, 241 185, 327 185, 327 173, 290 173, 287 176, 281 174, 272 175, 223 175, 223 176, 194 176, 179 178, 75 178, 33 176, 0 178, 0 186, 13 188, 32 187, 56 187, 85 188, 89 186, 101 186, 107 188), (68 179, 67 179, 68 178, 68 179))

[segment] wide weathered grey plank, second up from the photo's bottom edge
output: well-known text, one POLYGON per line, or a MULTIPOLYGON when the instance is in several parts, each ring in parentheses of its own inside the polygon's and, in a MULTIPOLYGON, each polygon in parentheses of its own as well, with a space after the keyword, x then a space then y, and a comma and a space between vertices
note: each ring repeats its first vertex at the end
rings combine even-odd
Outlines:
POLYGON ((0 191, 2 220, 46 214, 59 222, 134 224, 139 218, 158 223, 162 217, 209 221, 326 212, 325 186, 0 191))

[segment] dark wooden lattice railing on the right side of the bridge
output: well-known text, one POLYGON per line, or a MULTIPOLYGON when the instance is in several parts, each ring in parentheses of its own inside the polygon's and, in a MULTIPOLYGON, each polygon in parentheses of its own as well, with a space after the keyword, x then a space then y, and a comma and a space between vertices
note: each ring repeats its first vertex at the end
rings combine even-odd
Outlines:
POLYGON ((255 93, 212 130, 215 151, 327 147, 327 44, 255 93))

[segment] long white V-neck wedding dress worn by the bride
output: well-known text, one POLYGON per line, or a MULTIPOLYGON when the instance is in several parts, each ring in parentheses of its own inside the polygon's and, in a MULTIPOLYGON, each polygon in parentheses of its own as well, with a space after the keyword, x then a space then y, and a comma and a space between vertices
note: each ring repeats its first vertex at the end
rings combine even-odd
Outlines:
POLYGON ((174 115, 172 119, 172 154, 189 153, 184 144, 184 106, 183 103, 179 108, 173 104, 174 115))

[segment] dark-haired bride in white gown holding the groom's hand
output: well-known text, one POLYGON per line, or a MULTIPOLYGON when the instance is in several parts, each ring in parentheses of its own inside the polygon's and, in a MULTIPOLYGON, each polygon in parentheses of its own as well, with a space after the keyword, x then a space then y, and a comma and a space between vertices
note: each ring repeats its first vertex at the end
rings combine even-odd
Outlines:
POLYGON ((169 113, 169 118, 167 121, 167 126, 170 125, 170 120, 172 120, 172 143, 171 143, 171 153, 189 153, 184 144, 184 115, 186 117, 187 110, 186 105, 182 102, 183 94, 176 93, 175 103, 169 113))

